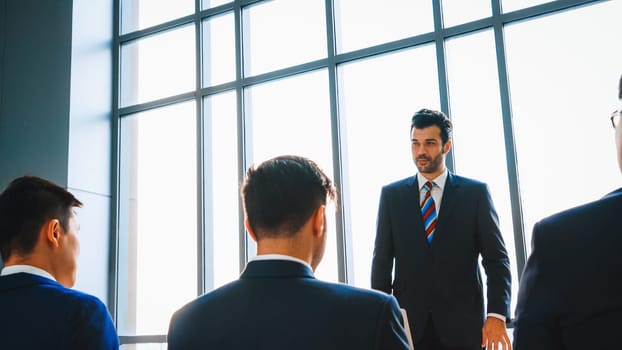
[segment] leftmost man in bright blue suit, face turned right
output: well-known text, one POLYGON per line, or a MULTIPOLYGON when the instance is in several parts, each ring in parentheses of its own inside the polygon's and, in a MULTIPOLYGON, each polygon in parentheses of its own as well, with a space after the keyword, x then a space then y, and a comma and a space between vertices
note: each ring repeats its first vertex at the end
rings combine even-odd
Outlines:
POLYGON ((82 203, 37 177, 0 194, 0 349, 118 349, 106 306, 71 288, 82 203))

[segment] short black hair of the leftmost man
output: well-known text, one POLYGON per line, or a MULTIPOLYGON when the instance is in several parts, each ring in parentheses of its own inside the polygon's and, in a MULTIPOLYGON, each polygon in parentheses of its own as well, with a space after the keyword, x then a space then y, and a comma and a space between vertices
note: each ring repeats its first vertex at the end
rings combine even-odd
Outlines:
POLYGON ((5 262, 13 253, 31 253, 41 226, 58 219, 67 230, 73 207, 80 202, 66 189, 36 176, 13 180, 0 194, 0 254, 5 262))

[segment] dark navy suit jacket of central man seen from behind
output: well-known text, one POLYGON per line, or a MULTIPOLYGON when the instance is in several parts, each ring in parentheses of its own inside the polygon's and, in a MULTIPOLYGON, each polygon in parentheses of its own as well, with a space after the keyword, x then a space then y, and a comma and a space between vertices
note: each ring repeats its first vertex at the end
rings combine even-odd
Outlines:
POLYGON ((252 261, 240 279, 177 311, 169 350, 408 349, 395 298, 322 282, 293 261, 252 261))

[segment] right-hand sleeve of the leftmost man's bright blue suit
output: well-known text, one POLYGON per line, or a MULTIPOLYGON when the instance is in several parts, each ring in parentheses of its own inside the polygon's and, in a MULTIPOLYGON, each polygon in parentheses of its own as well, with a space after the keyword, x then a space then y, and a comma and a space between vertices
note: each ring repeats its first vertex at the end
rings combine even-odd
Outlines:
POLYGON ((118 350, 119 337, 106 306, 90 296, 75 303, 69 349, 118 350))

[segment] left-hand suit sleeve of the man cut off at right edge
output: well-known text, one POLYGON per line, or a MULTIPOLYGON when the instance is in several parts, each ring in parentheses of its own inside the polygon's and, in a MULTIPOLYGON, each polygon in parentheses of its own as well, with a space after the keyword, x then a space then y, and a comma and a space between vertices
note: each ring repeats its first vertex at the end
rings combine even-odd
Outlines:
MULTIPOLYGON (((514 326, 515 350, 559 349, 555 335, 555 310, 559 295, 553 285, 554 276, 548 271, 543 247, 544 230, 536 224, 532 235, 532 252, 523 271, 516 305, 514 326)), ((554 271, 553 271, 554 273, 554 271)))

